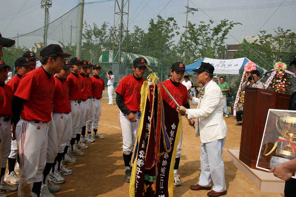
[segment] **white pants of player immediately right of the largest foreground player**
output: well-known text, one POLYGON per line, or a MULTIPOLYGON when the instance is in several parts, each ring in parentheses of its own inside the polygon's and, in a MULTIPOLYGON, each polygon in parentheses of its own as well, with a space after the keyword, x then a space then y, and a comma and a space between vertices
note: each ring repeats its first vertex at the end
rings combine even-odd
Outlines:
MULTIPOLYGON (((54 124, 57 125, 57 145, 58 145, 58 153, 63 153, 64 148, 67 145, 69 132, 70 132, 70 113, 54 113, 53 120, 54 124)), ((72 133, 70 138, 72 137, 72 133)), ((70 140, 69 140, 70 143, 70 140)))

